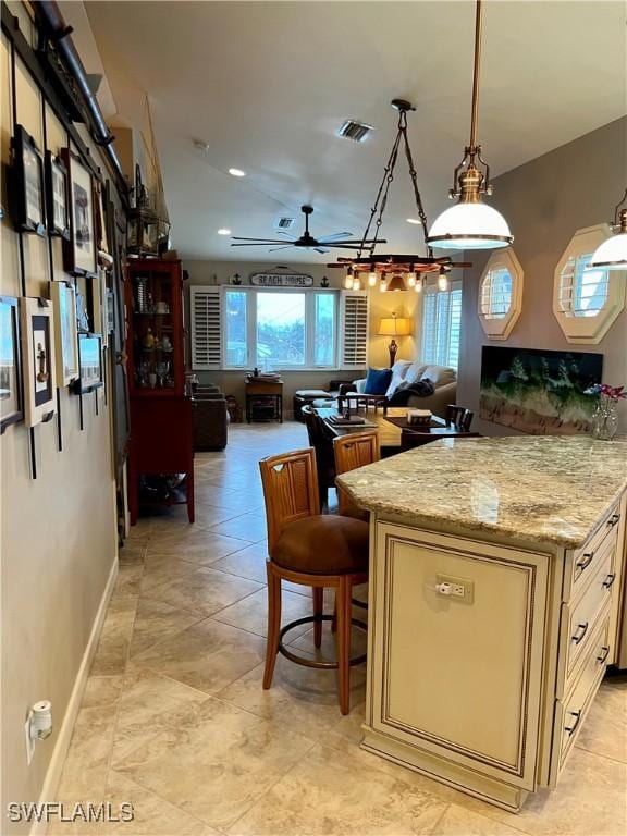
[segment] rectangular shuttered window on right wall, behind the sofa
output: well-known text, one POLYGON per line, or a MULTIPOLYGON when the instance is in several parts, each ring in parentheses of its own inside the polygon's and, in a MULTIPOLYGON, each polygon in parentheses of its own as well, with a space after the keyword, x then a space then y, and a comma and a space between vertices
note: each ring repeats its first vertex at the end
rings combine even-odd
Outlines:
POLYGON ((457 368, 462 324, 462 286, 425 287, 422 298, 422 362, 457 368))

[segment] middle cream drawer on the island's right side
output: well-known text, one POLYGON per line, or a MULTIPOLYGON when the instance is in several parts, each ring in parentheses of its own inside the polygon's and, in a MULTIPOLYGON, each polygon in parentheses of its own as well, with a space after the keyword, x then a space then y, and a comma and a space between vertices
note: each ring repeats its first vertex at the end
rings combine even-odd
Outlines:
MULTIPOLYGON (((615 580, 616 549, 603 548, 594 576, 583 593, 573 603, 562 604, 558 696, 569 687, 569 679, 586 656, 592 634, 605 611, 610 607, 615 580)), ((615 544, 614 544, 615 546, 615 544)))

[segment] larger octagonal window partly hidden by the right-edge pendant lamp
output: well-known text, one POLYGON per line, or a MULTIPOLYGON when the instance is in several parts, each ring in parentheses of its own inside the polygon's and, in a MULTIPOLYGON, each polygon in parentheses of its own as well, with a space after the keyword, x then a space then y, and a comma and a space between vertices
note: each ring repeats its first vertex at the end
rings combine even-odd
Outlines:
POLYGON ((611 235, 607 224, 578 230, 555 268, 553 312, 569 343, 599 343, 625 307, 626 273, 589 267, 611 235))

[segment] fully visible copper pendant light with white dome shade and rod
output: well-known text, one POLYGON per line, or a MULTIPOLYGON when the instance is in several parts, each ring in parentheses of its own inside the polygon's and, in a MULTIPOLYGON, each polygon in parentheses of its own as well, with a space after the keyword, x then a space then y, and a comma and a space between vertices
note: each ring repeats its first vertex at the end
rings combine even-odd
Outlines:
POLYGON ((459 202, 440 214, 429 230, 427 243, 441 249, 496 249, 514 241, 507 221, 491 206, 482 202, 481 195, 492 194, 490 167, 481 157, 477 145, 477 114, 479 110, 479 70, 481 64, 481 0, 477 0, 475 16, 475 73, 472 77, 472 111, 470 116, 470 145, 453 174, 453 188, 448 196, 459 202), (483 171, 477 167, 479 163, 483 171))

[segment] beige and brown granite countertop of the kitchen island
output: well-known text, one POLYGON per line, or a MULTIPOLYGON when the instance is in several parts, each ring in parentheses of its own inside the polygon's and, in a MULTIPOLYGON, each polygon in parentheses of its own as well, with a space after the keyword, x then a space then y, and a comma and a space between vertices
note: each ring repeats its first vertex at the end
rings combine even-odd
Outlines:
POLYGON ((578 548, 627 489, 627 444, 581 435, 446 439, 337 483, 359 506, 418 526, 578 548))

